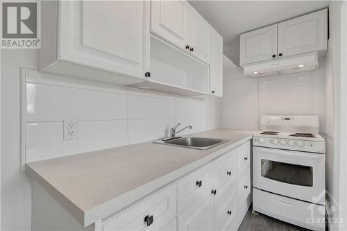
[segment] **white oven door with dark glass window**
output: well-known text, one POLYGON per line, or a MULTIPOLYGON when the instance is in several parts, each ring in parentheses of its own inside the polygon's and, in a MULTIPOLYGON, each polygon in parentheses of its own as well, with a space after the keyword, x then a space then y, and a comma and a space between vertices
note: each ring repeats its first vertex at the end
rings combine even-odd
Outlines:
POLYGON ((324 205, 325 155, 254 146, 253 185, 324 205))

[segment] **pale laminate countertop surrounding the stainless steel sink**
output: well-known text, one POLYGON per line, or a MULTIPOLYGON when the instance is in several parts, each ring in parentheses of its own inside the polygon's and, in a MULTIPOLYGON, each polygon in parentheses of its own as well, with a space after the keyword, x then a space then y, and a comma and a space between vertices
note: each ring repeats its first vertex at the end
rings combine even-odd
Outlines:
POLYGON ((146 142, 26 164, 26 172, 83 226, 117 212, 253 137, 211 130, 196 137, 228 139, 205 151, 146 142))

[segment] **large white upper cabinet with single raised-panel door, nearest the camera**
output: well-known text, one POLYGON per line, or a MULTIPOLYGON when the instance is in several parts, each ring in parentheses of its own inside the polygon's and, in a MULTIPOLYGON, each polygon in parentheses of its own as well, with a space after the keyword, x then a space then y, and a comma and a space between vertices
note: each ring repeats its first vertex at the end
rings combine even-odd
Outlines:
POLYGON ((148 2, 44 1, 42 8, 41 71, 121 85, 146 79, 148 2))

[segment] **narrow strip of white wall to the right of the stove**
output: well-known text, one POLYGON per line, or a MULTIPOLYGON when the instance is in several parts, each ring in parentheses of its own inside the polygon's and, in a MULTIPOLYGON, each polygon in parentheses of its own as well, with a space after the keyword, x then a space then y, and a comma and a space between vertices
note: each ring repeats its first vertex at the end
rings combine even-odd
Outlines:
MULTIPOLYGON (((341 134, 346 134, 346 130, 341 130, 341 125, 346 126, 346 121, 342 121, 341 118, 341 105, 342 109, 346 112, 347 99, 341 99, 341 95, 346 96, 346 86, 341 83, 346 83, 346 76, 342 76, 341 70, 345 69, 346 53, 341 53, 343 47, 346 48, 346 35, 342 38, 341 31, 346 33, 346 3, 344 8, 341 8, 341 1, 330 1, 329 15, 330 15, 330 38, 329 38, 329 50, 327 53, 327 65, 326 65, 326 89, 325 98, 327 101, 326 107, 326 189, 331 195, 328 200, 331 203, 330 209, 334 207, 337 211, 332 210, 332 214, 329 214, 330 218, 343 217, 343 209, 346 210, 346 182, 341 182, 340 179, 346 180, 346 153, 341 152, 346 148, 346 140, 341 140, 341 134), (341 10, 345 10, 341 12, 341 10), (341 23, 342 22, 342 23, 341 23), (341 59, 344 57, 345 59, 341 59), (341 216, 342 215, 342 216, 341 216)), ((345 73, 346 74, 346 73, 345 73)), ((344 113, 345 113, 344 112, 344 113)), ((346 127, 344 127, 346 129, 346 127)), ((345 137, 345 136, 342 136, 345 137)), ((346 212, 345 212, 346 214, 346 212)), ((332 224, 330 230, 346 230, 347 218, 343 226, 332 224), (344 227, 344 228, 343 228, 344 227)))

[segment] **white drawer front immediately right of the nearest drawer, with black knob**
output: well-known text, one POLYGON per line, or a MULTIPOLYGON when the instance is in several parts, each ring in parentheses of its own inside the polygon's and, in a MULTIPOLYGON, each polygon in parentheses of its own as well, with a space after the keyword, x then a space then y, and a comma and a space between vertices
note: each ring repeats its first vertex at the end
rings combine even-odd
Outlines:
POLYGON ((211 195, 213 187, 212 164, 202 166, 178 182, 178 211, 211 195))

